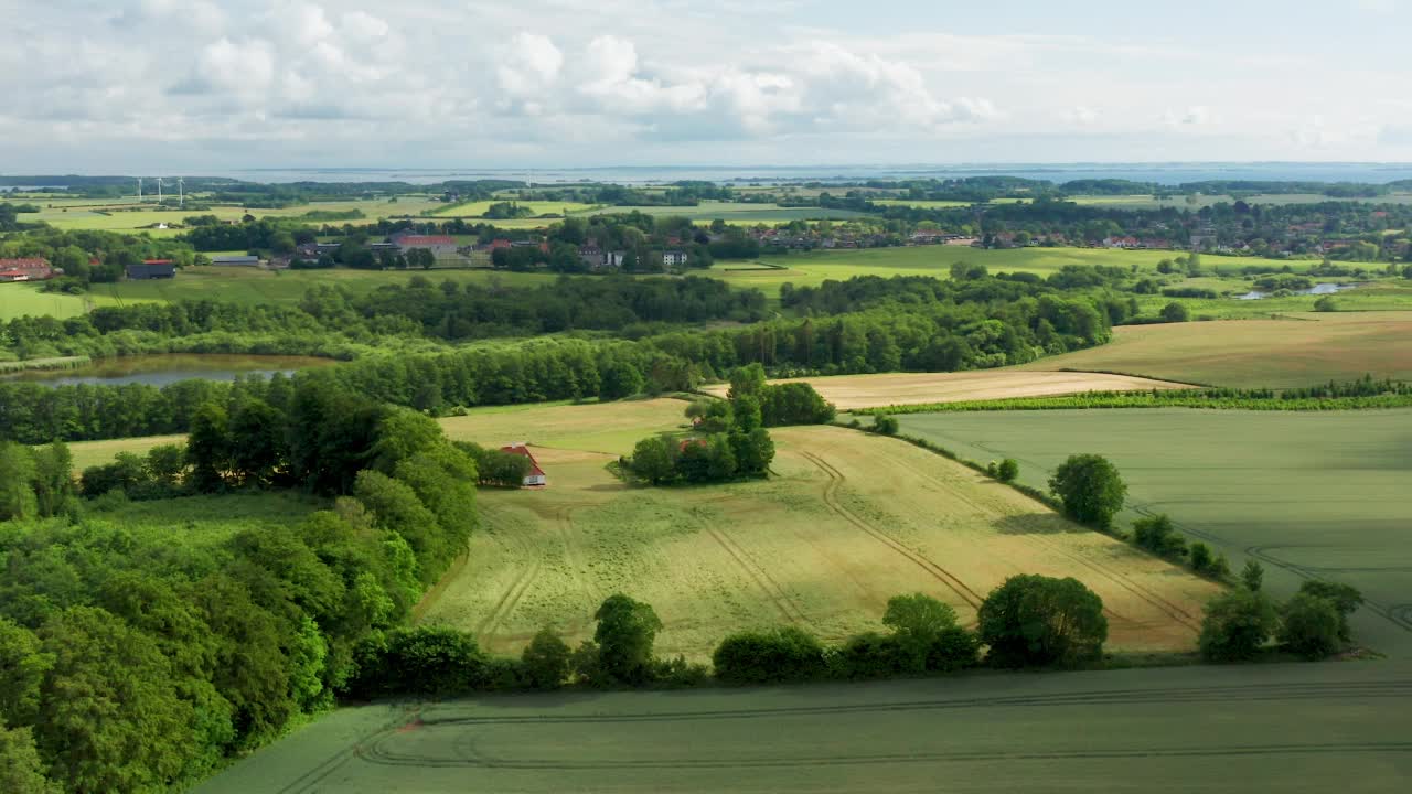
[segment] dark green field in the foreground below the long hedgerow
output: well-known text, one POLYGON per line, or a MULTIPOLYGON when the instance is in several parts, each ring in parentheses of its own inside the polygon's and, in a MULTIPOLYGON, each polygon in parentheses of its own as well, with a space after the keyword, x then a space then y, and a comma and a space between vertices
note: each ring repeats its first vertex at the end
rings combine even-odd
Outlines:
POLYGON ((573 692, 340 709, 196 788, 1391 793, 1405 664, 573 692))

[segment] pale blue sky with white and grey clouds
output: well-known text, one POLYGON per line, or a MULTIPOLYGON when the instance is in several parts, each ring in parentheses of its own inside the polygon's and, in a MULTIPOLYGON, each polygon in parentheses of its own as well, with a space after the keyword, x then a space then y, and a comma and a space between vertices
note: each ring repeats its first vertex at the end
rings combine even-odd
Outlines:
POLYGON ((1412 0, 0 0, 0 172, 1412 161, 1412 0))

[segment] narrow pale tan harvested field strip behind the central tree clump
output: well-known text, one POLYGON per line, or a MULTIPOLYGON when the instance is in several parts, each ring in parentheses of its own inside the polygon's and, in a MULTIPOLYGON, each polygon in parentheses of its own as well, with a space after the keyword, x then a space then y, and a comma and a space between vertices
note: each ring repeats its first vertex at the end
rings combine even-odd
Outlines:
MULTIPOLYGON (((1046 359, 1048 360, 1048 359, 1046 359)), ((842 411, 887 405, 959 403, 963 400, 1007 400, 1011 397, 1053 397, 1084 391, 1151 391, 1186 389, 1182 383, 1089 372, 977 370, 939 373, 840 374, 834 377, 791 377, 771 383, 808 383, 842 411)), ((729 384, 702 389, 724 397, 729 384)))

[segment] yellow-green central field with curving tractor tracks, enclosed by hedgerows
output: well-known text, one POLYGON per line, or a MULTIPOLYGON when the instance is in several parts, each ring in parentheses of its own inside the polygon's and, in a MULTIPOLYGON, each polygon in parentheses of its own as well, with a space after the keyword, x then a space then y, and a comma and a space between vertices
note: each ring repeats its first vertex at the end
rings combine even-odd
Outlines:
POLYGON ((484 439, 528 441, 549 485, 481 490, 484 528, 421 619, 518 653, 544 626, 589 637, 596 606, 627 592, 662 617, 662 654, 702 660, 746 627, 791 623, 830 640, 878 629, 905 592, 973 623, 991 588, 1031 572, 1093 588, 1110 648, 1161 653, 1193 647, 1219 592, 905 442, 833 427, 772 435, 770 480, 672 489, 627 486, 606 470, 616 455, 537 446, 534 432, 484 439))

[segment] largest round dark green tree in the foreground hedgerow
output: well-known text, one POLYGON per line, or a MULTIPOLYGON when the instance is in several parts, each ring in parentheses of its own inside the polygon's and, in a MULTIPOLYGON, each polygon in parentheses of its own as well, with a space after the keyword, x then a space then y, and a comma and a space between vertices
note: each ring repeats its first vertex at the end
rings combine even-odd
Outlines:
POLYGON ((1108 637, 1103 599, 1073 578, 1011 576, 981 602, 979 620, 987 658, 1001 667, 1097 658, 1108 637))

